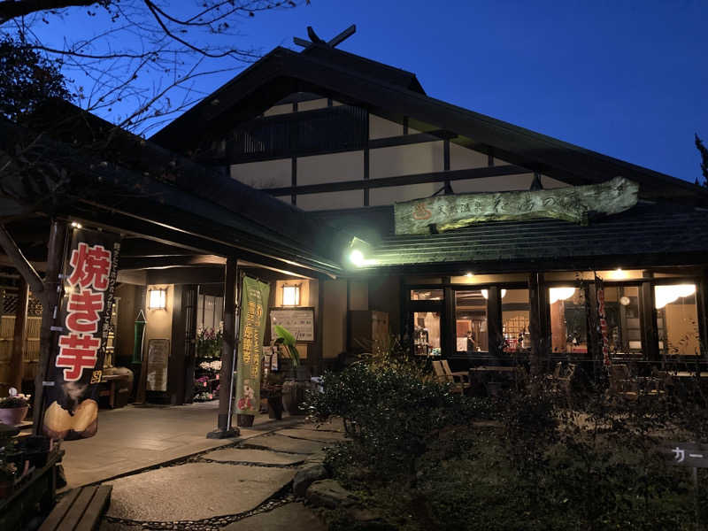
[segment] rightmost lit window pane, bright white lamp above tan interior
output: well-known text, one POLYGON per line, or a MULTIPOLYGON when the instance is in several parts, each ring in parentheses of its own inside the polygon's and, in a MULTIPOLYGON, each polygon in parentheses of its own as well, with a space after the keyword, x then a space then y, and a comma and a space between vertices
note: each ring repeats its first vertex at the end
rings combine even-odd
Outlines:
POLYGON ((666 355, 699 354, 696 284, 656 286, 654 296, 659 350, 666 355))

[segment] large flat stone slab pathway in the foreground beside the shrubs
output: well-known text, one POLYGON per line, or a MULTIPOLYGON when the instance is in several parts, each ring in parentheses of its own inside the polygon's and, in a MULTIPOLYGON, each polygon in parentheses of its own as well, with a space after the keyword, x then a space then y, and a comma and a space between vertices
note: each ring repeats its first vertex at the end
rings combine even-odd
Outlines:
POLYGON ((112 499, 100 531, 324 531, 317 516, 296 502, 291 481, 298 466, 321 458, 324 447, 343 437, 341 423, 303 421, 107 481, 112 499))

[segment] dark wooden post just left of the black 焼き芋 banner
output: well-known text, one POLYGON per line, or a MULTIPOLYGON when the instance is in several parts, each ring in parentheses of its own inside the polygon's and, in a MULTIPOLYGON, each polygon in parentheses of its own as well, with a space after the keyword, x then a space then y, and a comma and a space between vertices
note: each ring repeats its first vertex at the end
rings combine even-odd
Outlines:
POLYGON ((64 261, 66 225, 54 221, 51 224, 49 249, 47 252, 47 272, 44 276, 42 297, 42 328, 40 329, 39 365, 35 376, 34 433, 42 434, 44 417, 44 379, 50 362, 51 350, 57 342, 57 332, 52 330, 57 319, 61 282, 59 272, 64 261))

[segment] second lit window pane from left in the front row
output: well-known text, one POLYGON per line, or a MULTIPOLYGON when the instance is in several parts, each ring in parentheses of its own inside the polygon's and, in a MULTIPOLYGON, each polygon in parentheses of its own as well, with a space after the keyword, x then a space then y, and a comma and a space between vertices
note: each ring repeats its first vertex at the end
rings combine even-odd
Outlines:
POLYGON ((458 352, 489 351, 486 294, 486 289, 455 292, 458 352))

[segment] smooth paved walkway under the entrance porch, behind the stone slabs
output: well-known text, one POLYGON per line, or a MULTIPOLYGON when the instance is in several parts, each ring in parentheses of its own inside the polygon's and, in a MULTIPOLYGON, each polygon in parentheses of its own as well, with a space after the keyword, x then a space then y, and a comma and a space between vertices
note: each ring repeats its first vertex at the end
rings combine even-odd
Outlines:
MULTIPOLYGON (((219 404, 206 402, 179 406, 127 406, 98 413, 98 432, 80 441, 65 441, 64 469, 67 488, 105 481, 150 466, 211 450, 234 439, 207 439, 216 427, 219 404)), ((275 427, 301 422, 303 417, 283 420, 256 417, 252 428, 240 428, 241 439, 275 427)))

